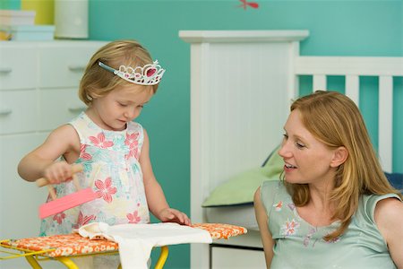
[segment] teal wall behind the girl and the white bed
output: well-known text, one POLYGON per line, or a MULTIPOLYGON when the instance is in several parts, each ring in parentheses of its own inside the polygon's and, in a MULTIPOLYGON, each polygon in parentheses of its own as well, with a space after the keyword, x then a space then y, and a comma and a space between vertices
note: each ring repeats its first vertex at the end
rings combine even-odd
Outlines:
MULTIPOLYGON (((190 46, 178 38, 179 30, 309 30, 301 44, 305 56, 403 56, 401 0, 250 1, 259 9, 239 8, 237 0, 90 0, 90 39, 138 39, 167 69, 140 121, 148 129, 151 160, 169 204, 185 213, 190 211, 190 46)), ((18 8, 18 1, 11 2, 18 8)), ((342 82, 332 77, 329 88, 344 91, 342 82)), ((363 100, 371 105, 362 109, 376 141, 377 81, 361 82, 362 89, 370 89, 363 100)), ((312 78, 302 78, 301 84, 302 94, 311 91, 312 78)), ((393 169, 403 172, 401 78, 395 84, 394 115, 399 117, 393 143, 400 150, 394 152, 393 169)), ((166 268, 189 267, 187 245, 169 250, 166 268)))

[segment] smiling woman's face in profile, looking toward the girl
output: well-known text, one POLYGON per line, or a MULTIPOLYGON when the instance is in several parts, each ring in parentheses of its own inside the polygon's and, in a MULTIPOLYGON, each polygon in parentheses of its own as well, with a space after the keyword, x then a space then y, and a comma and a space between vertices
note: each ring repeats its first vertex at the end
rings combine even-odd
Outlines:
POLYGON ((331 167, 331 162, 335 150, 317 140, 304 127, 297 109, 289 115, 284 130, 279 155, 285 161, 286 181, 297 184, 333 182, 336 169, 331 167))

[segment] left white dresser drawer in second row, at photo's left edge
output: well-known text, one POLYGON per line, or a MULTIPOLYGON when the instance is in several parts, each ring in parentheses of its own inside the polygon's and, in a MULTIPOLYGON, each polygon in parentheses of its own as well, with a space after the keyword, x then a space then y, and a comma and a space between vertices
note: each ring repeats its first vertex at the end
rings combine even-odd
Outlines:
POLYGON ((38 124, 34 90, 0 91, 0 134, 35 131, 38 124))

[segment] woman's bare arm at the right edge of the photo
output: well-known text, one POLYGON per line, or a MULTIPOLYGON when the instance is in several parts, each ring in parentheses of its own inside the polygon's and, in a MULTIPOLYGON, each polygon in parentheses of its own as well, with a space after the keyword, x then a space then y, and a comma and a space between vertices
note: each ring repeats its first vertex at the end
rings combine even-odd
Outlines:
POLYGON ((396 198, 381 200, 376 204, 374 218, 393 262, 403 268, 403 203, 396 198))

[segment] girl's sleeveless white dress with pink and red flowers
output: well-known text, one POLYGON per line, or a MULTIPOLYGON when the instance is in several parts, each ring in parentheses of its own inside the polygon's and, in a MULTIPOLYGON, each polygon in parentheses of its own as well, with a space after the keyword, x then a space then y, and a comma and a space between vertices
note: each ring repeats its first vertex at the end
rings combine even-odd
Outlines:
MULTIPOLYGON (((150 222, 139 163, 142 126, 129 122, 123 131, 107 131, 84 112, 69 124, 80 137, 76 163, 81 163, 84 171, 76 175, 81 188, 91 187, 98 198, 42 220, 40 235, 70 233, 91 221, 109 225, 150 222)), ((59 197, 76 192, 73 182, 55 188, 59 197)))

